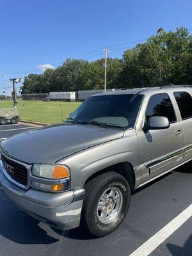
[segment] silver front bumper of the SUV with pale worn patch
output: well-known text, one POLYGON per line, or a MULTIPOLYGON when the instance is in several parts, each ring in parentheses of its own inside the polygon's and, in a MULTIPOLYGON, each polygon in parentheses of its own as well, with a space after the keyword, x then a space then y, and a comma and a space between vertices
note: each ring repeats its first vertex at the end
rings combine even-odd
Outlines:
POLYGON ((79 226, 84 189, 49 193, 29 188, 20 189, 6 179, 0 170, 0 185, 4 194, 22 211, 36 220, 60 229, 79 226))

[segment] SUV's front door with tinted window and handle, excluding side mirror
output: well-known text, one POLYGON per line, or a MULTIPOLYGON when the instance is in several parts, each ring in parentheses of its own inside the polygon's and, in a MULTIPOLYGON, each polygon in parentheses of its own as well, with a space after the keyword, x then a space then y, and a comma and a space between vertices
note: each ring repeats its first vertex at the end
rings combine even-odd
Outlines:
POLYGON ((143 131, 142 123, 140 127, 136 127, 143 183, 174 168, 182 161, 183 132, 168 93, 147 93, 140 115, 143 124, 148 122, 150 116, 166 116, 170 122, 168 129, 143 131))

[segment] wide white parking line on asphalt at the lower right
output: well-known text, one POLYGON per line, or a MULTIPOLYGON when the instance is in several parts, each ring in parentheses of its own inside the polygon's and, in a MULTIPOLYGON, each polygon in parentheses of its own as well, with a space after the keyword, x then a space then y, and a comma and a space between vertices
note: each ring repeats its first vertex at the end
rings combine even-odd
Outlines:
POLYGON ((192 204, 129 256, 147 256, 192 216, 192 204))

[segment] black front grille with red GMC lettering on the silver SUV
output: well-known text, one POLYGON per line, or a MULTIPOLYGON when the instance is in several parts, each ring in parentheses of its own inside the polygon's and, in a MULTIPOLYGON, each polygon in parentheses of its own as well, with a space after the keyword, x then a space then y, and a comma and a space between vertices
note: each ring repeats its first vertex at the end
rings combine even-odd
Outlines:
POLYGON ((1 155, 1 160, 4 169, 10 175, 10 177, 17 181, 18 183, 27 186, 28 184, 28 169, 22 164, 15 163, 14 161, 7 159, 5 156, 1 155))

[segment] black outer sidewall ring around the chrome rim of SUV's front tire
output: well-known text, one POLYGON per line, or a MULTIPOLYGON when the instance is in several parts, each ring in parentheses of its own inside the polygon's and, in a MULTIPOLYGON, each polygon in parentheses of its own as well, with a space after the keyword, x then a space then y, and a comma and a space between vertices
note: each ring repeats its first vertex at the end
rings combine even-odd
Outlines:
POLYGON ((93 205, 90 211, 90 216, 93 218, 92 228, 93 230, 97 230, 97 236, 106 236, 106 234, 111 233, 120 225, 120 223, 122 223, 129 209, 130 196, 131 191, 129 188, 129 184, 127 184, 124 179, 120 179, 120 177, 115 177, 111 180, 108 180, 108 182, 106 182, 105 184, 102 184, 102 186, 99 186, 99 188, 97 189, 97 193, 95 193, 93 205), (113 222, 109 224, 104 224, 100 222, 97 216, 97 204, 99 202, 100 196, 102 196, 104 191, 112 187, 120 189, 122 193, 122 209, 113 222))

